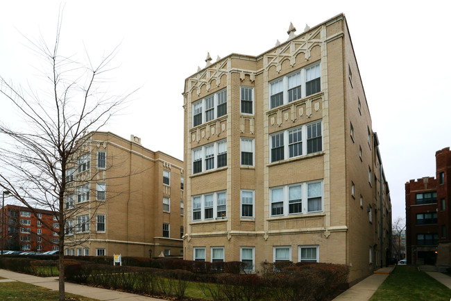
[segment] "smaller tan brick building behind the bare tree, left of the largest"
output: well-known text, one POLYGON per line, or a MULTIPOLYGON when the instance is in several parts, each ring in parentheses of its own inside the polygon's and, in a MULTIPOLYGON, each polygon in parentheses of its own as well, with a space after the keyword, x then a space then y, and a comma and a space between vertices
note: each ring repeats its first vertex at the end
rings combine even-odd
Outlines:
POLYGON ((67 171, 65 254, 182 256, 183 162, 133 135, 85 137, 67 171))

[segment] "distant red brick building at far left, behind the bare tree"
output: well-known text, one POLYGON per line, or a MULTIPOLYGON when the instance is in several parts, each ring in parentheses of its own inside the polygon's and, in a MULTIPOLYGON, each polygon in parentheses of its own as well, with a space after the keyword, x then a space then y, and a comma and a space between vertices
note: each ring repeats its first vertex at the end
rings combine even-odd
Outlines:
POLYGON ((58 221, 53 216, 48 210, 35 209, 33 213, 24 206, 6 205, 0 214, 0 247, 33 252, 58 250, 58 234, 52 229, 58 227, 58 221))

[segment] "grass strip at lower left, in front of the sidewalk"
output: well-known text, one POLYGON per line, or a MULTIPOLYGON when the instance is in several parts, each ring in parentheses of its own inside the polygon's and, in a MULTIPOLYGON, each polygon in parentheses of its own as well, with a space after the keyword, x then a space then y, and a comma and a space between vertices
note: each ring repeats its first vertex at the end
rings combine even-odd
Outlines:
MULTIPOLYGON (((0 300, 8 301, 57 301, 58 291, 52 291, 49 288, 34 286, 24 282, 1 282, 0 300)), ((79 295, 66 293, 66 300, 71 301, 99 301, 92 298, 86 298, 79 295)))

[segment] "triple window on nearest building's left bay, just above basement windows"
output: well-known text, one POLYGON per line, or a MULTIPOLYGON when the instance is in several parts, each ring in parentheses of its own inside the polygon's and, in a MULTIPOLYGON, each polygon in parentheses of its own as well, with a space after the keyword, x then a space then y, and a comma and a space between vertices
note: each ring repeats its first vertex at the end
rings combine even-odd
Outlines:
POLYGON ((226 191, 216 193, 205 193, 192 197, 193 221, 212 220, 214 217, 226 218, 226 191))

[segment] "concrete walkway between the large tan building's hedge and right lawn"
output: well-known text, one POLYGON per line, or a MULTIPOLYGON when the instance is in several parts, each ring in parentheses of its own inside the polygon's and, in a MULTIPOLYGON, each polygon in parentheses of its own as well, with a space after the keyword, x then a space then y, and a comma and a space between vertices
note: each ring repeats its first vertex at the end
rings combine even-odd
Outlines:
POLYGON ((333 301, 366 301, 377 291, 386 277, 393 271, 394 267, 380 268, 373 275, 366 277, 355 286, 338 295, 333 301))

